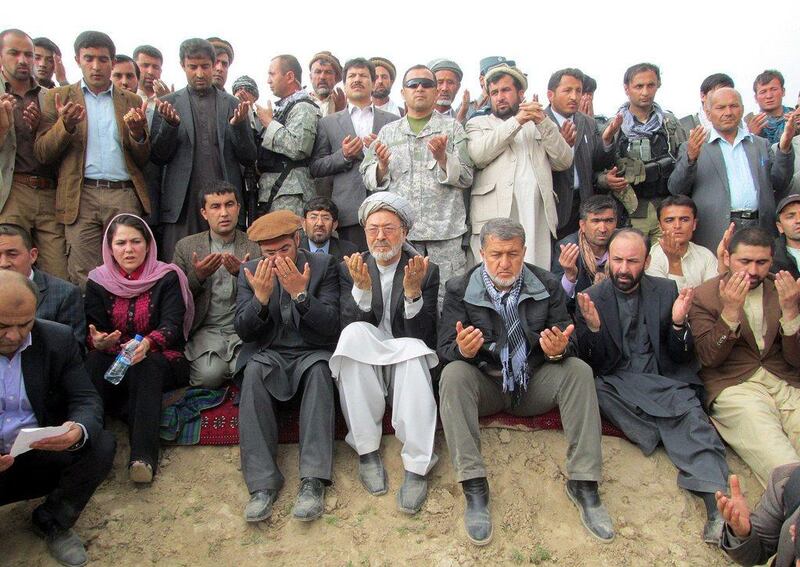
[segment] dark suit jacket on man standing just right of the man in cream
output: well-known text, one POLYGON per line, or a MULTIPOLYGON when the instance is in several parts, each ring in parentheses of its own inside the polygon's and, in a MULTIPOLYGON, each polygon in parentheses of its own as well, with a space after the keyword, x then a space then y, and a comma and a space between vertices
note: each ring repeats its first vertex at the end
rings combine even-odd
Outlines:
MULTIPOLYGON (((547 107, 547 115, 558 125, 553 107, 547 107)), ((597 130, 594 118, 576 112, 572 117, 577 128, 575 145, 572 148, 573 167, 564 171, 553 172, 553 191, 558 197, 556 210, 558 211, 558 230, 565 228, 572 213, 572 201, 575 196, 575 169, 578 170, 578 183, 580 200, 585 201, 596 193, 594 188, 594 172, 611 167, 614 161, 614 144, 606 151, 603 147, 603 137, 597 130)), ((616 143, 616 142, 615 142, 616 143)), ((559 237, 563 238, 559 232, 559 237)))

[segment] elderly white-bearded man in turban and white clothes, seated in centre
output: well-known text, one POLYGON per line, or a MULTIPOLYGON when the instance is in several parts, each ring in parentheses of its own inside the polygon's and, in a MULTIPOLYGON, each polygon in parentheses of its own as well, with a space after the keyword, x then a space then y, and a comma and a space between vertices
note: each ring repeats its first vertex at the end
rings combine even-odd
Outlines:
POLYGON ((369 252, 340 265, 343 327, 331 374, 339 388, 347 442, 359 454, 361 483, 374 496, 388 490, 380 455, 383 414, 403 443, 405 479, 397 494, 401 511, 417 513, 425 502, 425 478, 434 467, 436 401, 430 369, 436 344, 439 268, 420 256, 406 236, 414 224, 403 197, 379 192, 358 210, 369 252))

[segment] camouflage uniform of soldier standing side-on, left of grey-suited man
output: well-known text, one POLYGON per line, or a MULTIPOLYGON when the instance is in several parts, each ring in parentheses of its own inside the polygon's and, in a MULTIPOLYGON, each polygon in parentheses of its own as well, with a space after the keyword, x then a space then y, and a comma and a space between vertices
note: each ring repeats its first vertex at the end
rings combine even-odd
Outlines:
MULTIPOLYGON (((300 91, 295 94, 299 93, 300 91)), ((289 98, 291 97, 284 98, 276 105, 276 115, 279 114, 281 106, 285 105, 289 98)), ((286 156, 292 161, 301 162, 300 166, 289 172, 276 193, 270 210, 288 209, 302 217, 303 203, 316 194, 314 180, 311 179, 307 162, 314 149, 319 118, 320 110, 316 105, 310 102, 298 102, 289 112, 285 124, 273 120, 269 126, 264 128, 262 148, 286 156)), ((258 182, 258 201, 261 206, 269 200, 270 190, 278 177, 280 177, 280 172, 277 171, 261 174, 258 182)))

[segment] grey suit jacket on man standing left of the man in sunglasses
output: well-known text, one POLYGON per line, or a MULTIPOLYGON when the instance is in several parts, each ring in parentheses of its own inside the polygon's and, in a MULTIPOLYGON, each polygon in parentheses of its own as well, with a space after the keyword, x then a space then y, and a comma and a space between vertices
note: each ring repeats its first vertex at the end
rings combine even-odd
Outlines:
MULTIPOLYGON (((373 107, 372 132, 377 134, 389 122, 399 120, 390 112, 373 107)), ((361 158, 347 161, 342 154, 342 140, 347 136, 355 137, 353 121, 348 108, 329 114, 317 125, 317 138, 311 154, 310 171, 313 177, 333 176, 333 193, 331 198, 339 207, 339 225, 353 226, 358 224, 358 207, 367 197, 367 188, 358 172, 361 158)), ((363 157, 363 156, 362 156, 363 157)))

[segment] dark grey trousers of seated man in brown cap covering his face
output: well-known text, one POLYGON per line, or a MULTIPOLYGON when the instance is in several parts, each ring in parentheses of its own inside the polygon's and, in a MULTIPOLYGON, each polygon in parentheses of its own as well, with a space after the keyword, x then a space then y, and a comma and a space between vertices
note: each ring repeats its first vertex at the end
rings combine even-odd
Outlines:
MULTIPOLYGON (((300 478, 330 481, 333 475, 333 429, 336 407, 333 379, 326 361, 316 362, 303 373, 297 395, 300 401, 300 478)), ((258 363, 244 369, 239 403, 239 450, 242 474, 250 494, 280 490, 283 474, 278 469, 278 420, 275 398, 264 384, 258 363)))

